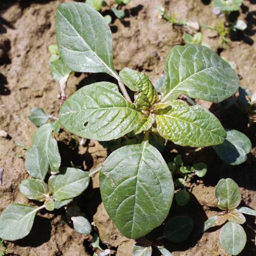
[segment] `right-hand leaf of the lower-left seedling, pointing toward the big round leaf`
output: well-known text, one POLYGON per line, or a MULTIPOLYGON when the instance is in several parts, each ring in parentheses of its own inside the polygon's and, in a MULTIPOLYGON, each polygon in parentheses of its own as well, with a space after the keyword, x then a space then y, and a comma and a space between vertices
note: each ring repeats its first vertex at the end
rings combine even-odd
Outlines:
POLYGON ((89 172, 76 168, 61 168, 60 173, 49 178, 48 185, 54 200, 62 201, 79 196, 90 182, 89 172))

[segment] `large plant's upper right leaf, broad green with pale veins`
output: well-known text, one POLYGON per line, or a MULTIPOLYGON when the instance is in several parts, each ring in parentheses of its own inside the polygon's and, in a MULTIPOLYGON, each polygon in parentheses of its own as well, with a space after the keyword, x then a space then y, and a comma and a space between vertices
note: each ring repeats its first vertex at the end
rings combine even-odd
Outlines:
POLYGON ((166 94, 182 93, 191 98, 220 102, 239 87, 236 72, 207 47, 175 46, 165 60, 166 94))

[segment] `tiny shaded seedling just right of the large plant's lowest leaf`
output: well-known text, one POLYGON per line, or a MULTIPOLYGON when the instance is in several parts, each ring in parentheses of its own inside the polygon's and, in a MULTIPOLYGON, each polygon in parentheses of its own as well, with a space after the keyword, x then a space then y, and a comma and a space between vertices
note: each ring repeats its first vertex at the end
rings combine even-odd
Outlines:
POLYGON ((195 175, 202 178, 207 172, 207 165, 205 163, 197 163, 191 166, 183 165, 183 160, 181 155, 178 155, 174 158, 173 162, 168 163, 168 167, 173 176, 182 176, 174 181, 174 184, 181 188, 175 194, 175 200, 178 205, 184 206, 188 203, 190 195, 186 189, 186 183, 191 180, 195 175))

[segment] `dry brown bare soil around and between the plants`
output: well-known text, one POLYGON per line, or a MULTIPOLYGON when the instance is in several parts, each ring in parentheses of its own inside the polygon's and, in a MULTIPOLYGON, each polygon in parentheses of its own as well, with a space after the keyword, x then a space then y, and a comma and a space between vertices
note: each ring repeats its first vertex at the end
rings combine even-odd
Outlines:
MULTIPOLYGON (((24 166, 26 152, 16 142, 31 145, 36 127, 27 118, 30 110, 38 106, 46 113, 58 116, 59 91, 49 72, 47 48, 55 43, 55 10, 62 2, 68 1, 2 0, 0 3, 0 130, 8 133, 6 138, 0 137, 0 167, 4 168, 3 184, 0 183, 0 212, 13 201, 28 202, 18 189, 19 183, 29 176, 24 166)), ((117 70, 129 67, 145 72, 153 82, 163 73, 167 52, 175 45, 183 44, 184 31, 159 19, 156 6, 178 13, 179 18, 208 26, 217 21, 210 0, 132 0, 124 6, 125 18, 115 19, 111 25, 115 67, 117 70)), ((256 2, 245 0, 239 15, 246 20, 248 29, 244 34, 233 35, 227 49, 220 49, 220 38, 205 29, 204 41, 221 56, 236 62, 241 86, 253 92, 256 89, 256 2)), ((88 77, 97 81, 111 80, 105 74, 76 74, 69 81, 67 95, 84 86, 88 77)), ((218 104, 202 100, 198 103, 216 114, 224 127, 244 132, 251 139, 253 150, 244 164, 229 166, 211 147, 195 149, 167 144, 163 154, 166 162, 172 161, 179 152, 186 164, 207 163, 208 173, 202 181, 191 183, 191 200, 187 206, 180 207, 174 202, 170 210, 170 216, 191 216, 195 221, 194 232, 184 243, 164 242, 175 256, 227 255, 219 243, 220 226, 211 228, 203 236, 197 231, 200 224, 216 214, 215 185, 220 178, 234 179, 242 190, 242 204, 256 209, 256 127, 255 124, 247 126, 248 119, 237 106, 223 110, 218 104)), ((57 139, 62 166, 70 166, 72 161, 83 169, 94 168, 109 154, 93 140, 75 147, 74 137, 65 131, 57 139)), ((79 205, 87 218, 94 221, 104 248, 110 247, 116 255, 132 255, 135 241, 123 237, 106 214, 100 199, 98 175, 80 197, 79 205)), ((92 236, 78 234, 65 220, 64 210, 41 211, 28 237, 6 243, 10 255, 92 255, 92 236)), ((248 216, 244 228, 247 244, 241 255, 255 255, 255 217, 248 216)), ((159 253, 154 251, 154 255, 159 253)))

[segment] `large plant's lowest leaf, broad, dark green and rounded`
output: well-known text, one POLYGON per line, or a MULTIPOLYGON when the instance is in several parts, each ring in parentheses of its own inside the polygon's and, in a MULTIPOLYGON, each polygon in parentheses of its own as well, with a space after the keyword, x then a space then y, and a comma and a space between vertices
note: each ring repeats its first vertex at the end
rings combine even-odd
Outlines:
POLYGON ((120 232, 137 239, 167 217, 174 185, 161 154, 143 142, 118 148, 105 160, 100 193, 106 212, 120 232))

